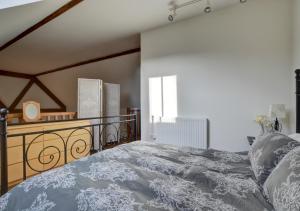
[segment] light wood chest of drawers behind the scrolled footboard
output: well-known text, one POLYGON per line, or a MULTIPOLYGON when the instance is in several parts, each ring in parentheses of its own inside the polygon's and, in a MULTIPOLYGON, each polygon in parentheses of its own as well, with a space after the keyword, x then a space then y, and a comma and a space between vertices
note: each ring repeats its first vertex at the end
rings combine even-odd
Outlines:
POLYGON ((87 156, 92 144, 91 128, 69 130, 67 128, 89 124, 89 121, 71 121, 9 126, 9 135, 66 128, 52 133, 27 135, 24 138, 22 136, 8 138, 9 187, 22 182, 25 177, 31 177, 87 156), (24 163, 24 160, 27 161, 24 163))

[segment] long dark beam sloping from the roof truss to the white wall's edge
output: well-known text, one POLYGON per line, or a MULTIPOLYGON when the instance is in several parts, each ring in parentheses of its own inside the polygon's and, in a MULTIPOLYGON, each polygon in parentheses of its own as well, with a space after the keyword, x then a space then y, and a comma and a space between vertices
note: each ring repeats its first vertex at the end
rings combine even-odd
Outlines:
POLYGON ((94 62, 100 62, 100 61, 103 61, 103 60, 112 59, 112 58, 115 58, 115 57, 120 57, 120 56, 125 56, 125 55, 129 55, 129 54, 137 53, 137 52, 140 52, 140 51, 141 51, 140 48, 134 48, 134 49, 130 49, 130 50, 127 50, 127 51, 122 51, 122 52, 119 52, 119 53, 114 53, 114 54, 110 54, 110 55, 107 55, 107 56, 102 56, 102 57, 98 57, 98 58, 78 62, 78 63, 75 63, 75 64, 70 64, 70 65, 58 67, 58 68, 55 68, 55 69, 52 69, 52 70, 47 70, 45 72, 38 73, 35 76, 46 75, 46 74, 49 74, 49 73, 54 73, 54 72, 70 69, 70 68, 73 68, 73 67, 78 67, 78 66, 82 66, 82 65, 86 65, 86 64, 90 64, 90 63, 94 63, 94 62))

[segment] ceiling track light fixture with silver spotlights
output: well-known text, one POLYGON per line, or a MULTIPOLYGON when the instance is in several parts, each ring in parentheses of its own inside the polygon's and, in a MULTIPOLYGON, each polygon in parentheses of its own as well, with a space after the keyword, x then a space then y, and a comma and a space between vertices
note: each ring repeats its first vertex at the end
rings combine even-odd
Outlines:
MULTIPOLYGON (((203 1, 203 0, 190 0, 190 1, 182 3, 182 4, 177 4, 176 0, 172 0, 169 3, 169 6, 170 6, 169 11, 171 12, 171 14, 168 16, 168 20, 170 22, 173 22, 175 20, 175 16, 177 15, 176 11, 178 9, 181 9, 181 8, 189 6, 189 5, 196 4, 196 3, 201 2, 201 1, 203 1)), ((211 13, 213 11, 213 8, 210 4, 210 1, 212 1, 212 0, 206 0, 206 6, 203 10, 205 13, 211 13)), ((240 0, 240 3, 242 3, 242 4, 246 3, 246 2, 247 2, 247 0, 240 0)))

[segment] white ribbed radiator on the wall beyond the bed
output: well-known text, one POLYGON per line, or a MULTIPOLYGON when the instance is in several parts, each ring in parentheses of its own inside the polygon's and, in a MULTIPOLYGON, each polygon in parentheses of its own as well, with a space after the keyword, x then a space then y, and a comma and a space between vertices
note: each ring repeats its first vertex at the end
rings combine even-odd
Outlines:
POLYGON ((208 148, 208 120, 176 118, 152 123, 153 138, 158 143, 208 148))

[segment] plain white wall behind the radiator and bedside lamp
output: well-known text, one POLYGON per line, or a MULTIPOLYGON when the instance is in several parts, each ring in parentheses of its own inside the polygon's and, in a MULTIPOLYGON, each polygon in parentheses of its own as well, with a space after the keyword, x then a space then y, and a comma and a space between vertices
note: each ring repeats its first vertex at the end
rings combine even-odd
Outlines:
POLYGON ((142 139, 149 139, 148 78, 177 75, 178 114, 210 120, 210 147, 247 150, 255 116, 291 108, 292 4, 252 0, 142 33, 142 139))

